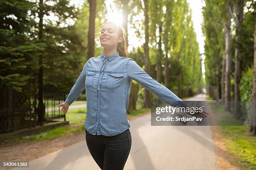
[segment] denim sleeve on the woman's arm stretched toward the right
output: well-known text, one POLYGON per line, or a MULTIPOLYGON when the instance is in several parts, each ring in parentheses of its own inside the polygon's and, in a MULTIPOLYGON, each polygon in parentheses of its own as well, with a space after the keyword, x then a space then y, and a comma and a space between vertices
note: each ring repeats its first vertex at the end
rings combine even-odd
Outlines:
POLYGON ((185 107, 186 103, 182 101, 171 90, 161 85, 146 73, 133 59, 129 58, 127 64, 128 76, 154 93, 160 100, 172 106, 185 107))

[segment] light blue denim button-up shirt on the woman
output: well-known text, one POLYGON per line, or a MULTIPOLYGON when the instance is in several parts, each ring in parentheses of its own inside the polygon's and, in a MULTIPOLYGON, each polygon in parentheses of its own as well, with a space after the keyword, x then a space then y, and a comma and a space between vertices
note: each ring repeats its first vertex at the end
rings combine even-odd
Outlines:
POLYGON ((65 102, 71 105, 85 88, 85 130, 92 135, 118 135, 130 128, 127 109, 132 80, 170 105, 185 106, 184 102, 175 102, 182 100, 148 75, 132 58, 122 57, 118 52, 106 57, 103 51, 100 56, 87 60, 65 102))

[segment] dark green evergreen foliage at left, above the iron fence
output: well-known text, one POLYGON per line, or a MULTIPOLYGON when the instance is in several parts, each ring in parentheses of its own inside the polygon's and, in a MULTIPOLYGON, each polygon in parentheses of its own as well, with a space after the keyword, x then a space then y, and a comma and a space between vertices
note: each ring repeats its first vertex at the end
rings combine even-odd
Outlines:
POLYGON ((69 5, 69 1, 45 2, 42 28, 35 20, 38 19, 39 1, 0 2, 1 87, 21 91, 30 78, 37 77, 38 59, 42 55, 44 87, 54 93, 70 90, 86 57, 82 55, 84 47, 77 29, 67 23, 68 20, 76 20, 79 13, 77 8, 69 5), (59 20, 49 20, 47 17, 50 15, 59 20), (42 39, 38 38, 40 29, 42 39))

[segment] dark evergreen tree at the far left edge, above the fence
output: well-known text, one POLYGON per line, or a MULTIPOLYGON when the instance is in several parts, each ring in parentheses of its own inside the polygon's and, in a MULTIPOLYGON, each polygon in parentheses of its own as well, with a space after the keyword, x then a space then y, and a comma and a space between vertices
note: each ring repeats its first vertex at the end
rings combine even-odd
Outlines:
MULTIPOLYGON (((31 10, 33 2, 0 1, 0 97, 3 99, 0 105, 7 109, 7 113, 23 110, 18 115, 20 119, 26 119, 31 107, 36 110, 35 72, 38 72, 38 55, 45 49, 44 43, 28 37, 33 29, 29 20, 31 10)), ((8 119, 0 115, 0 120, 8 119)), ((10 125, 8 121, 5 123, 10 125)), ((17 122, 13 123, 13 126, 19 126, 17 122)))

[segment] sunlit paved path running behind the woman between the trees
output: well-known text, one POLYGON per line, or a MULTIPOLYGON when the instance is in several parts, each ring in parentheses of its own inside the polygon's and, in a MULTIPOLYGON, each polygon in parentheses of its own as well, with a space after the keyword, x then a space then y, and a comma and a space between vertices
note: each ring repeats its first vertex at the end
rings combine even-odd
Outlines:
MULTIPOLYGON (((216 170, 210 126, 151 126, 147 114, 131 121, 130 131, 132 148, 125 170, 216 170)), ((32 160, 29 166, 20 170, 100 170, 85 140, 32 160)))

